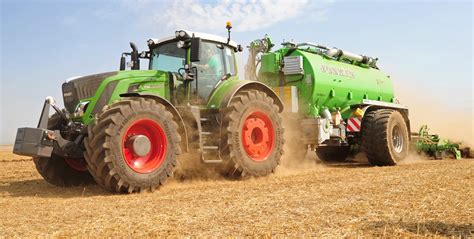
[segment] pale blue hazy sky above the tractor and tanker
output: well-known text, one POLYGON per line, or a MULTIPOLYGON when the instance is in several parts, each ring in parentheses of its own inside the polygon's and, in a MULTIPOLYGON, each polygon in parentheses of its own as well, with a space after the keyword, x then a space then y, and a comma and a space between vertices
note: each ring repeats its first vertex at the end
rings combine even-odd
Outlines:
POLYGON ((378 57, 402 102, 429 109, 412 111, 414 121, 446 132, 439 119, 459 119, 453 131, 472 142, 472 11, 471 1, 2 0, 0 144, 36 125, 45 96, 62 104, 67 78, 117 70, 129 41, 144 50, 147 39, 176 29, 225 36, 227 20, 242 45, 267 33, 277 44, 311 41, 378 57))

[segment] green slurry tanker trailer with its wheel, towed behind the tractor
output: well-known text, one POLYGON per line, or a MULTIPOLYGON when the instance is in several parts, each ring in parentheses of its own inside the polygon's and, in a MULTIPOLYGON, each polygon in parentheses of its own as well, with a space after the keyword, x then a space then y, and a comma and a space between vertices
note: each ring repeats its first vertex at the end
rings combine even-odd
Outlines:
POLYGON ((310 148, 323 161, 344 161, 361 149, 378 166, 407 156, 408 108, 398 102, 377 58, 311 42, 273 47, 268 36, 250 44, 246 78, 272 87, 282 99, 292 155, 303 157, 310 148))

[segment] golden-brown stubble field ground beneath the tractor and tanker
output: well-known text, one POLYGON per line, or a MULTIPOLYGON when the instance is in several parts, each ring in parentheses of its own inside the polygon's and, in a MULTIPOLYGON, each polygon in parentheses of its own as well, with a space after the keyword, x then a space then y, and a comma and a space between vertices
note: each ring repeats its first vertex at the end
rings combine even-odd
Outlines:
POLYGON ((285 163, 268 177, 170 180, 154 193, 47 184, 0 151, 0 237, 474 236, 474 160, 285 163), (286 164, 286 165, 285 165, 286 164))

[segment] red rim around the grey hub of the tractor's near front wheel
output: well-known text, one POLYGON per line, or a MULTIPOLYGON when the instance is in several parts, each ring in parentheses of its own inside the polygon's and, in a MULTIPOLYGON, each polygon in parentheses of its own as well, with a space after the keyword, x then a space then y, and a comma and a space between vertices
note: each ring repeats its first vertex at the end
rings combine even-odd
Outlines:
POLYGON ((150 173, 158 169, 166 157, 167 140, 163 128, 153 120, 140 119, 133 122, 125 131, 122 139, 122 154, 127 165, 138 173, 150 173), (131 142, 134 137, 146 137, 149 150, 145 154, 137 153, 131 142))

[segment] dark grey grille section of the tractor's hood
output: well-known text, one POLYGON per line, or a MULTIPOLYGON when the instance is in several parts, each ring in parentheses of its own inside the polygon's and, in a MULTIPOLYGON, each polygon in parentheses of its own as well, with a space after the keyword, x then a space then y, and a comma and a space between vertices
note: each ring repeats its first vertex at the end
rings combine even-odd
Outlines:
POLYGON ((66 107, 69 112, 73 112, 81 99, 94 96, 102 81, 117 74, 117 71, 105 72, 82 76, 65 82, 62 86, 64 107, 66 107))

